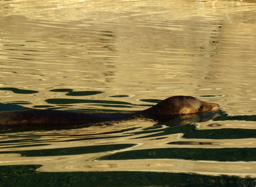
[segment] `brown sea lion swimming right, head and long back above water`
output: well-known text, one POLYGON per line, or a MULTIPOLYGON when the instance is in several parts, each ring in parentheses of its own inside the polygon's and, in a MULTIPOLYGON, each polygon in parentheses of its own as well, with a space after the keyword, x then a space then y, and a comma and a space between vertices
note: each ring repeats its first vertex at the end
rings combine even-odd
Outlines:
POLYGON ((61 110, 24 110, 0 112, 0 129, 3 127, 63 126, 99 123, 128 119, 132 116, 177 116, 218 111, 219 105, 207 103, 191 96, 172 96, 155 106, 135 113, 85 113, 61 110))

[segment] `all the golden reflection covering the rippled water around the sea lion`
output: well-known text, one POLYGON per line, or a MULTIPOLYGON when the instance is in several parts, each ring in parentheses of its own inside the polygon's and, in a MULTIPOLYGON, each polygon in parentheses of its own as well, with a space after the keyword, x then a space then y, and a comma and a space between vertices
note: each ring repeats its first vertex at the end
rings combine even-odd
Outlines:
MULTIPOLYGON (((255 2, 217 0, 2 1, 0 86, 38 93, 19 94, 0 90, 0 102, 27 101, 28 104, 23 106, 31 108, 34 105, 46 105, 46 99, 68 98, 124 101, 140 105, 152 104, 141 102, 140 99, 191 95, 206 102, 218 103, 229 114, 255 114, 255 5, 255 2), (50 92, 52 89, 104 93, 67 96, 63 92, 50 92), (113 95, 133 97, 109 97, 113 95)), ((75 103, 65 105, 64 108, 104 109, 104 106, 93 104, 75 103)), ((143 108, 132 106, 120 110, 143 108)), ((117 110, 118 107, 109 109, 117 110)), ((124 122, 113 126, 57 132, 30 132, 32 135, 42 135, 39 142, 46 141, 51 145, 3 150, 50 149, 102 143, 136 143, 137 146, 131 149, 255 147, 253 138, 202 140, 184 139, 181 134, 175 134, 164 139, 132 139, 140 136, 134 135, 134 132, 153 125, 154 122, 139 121, 136 124, 124 122), (81 135, 138 126, 141 128, 130 131, 131 135, 125 138, 110 139, 110 135, 105 135, 105 139, 69 141, 81 135), (53 133, 57 134, 53 136, 53 133), (60 138, 62 141, 57 141, 60 138), (175 141, 185 143, 167 144, 175 141)), ((197 127, 255 129, 255 122, 207 121, 199 123, 197 127)), ((18 135, 14 134, 16 138, 18 135)), ((108 153, 48 157, 5 154, 1 155, 0 164, 43 164, 39 170, 47 172, 139 170, 242 176, 255 176, 256 173, 255 162, 92 160, 105 154, 108 153)))

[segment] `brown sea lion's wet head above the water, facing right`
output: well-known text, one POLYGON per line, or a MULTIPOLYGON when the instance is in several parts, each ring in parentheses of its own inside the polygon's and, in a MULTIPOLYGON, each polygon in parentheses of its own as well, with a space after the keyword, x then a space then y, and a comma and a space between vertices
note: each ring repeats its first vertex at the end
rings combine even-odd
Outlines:
POLYGON ((186 115, 218 111, 220 106, 207 103, 191 96, 172 96, 164 99, 155 106, 144 110, 149 115, 186 115))

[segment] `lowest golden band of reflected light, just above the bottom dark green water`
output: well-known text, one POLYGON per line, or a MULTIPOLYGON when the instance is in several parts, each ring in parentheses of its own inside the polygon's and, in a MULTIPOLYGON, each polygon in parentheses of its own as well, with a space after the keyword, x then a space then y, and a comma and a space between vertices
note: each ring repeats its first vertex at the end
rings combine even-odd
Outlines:
POLYGON ((139 159, 139 160, 91 160, 102 156, 98 154, 18 157, 17 154, 2 156, 0 165, 40 164, 40 172, 75 171, 153 171, 153 172, 189 172, 206 175, 256 176, 256 162, 217 162, 177 159, 139 159), (7 160, 6 160, 7 159, 7 160), (91 161, 90 161, 91 160, 91 161), (210 166, 210 167, 209 167, 210 166), (243 170, 241 170, 243 168, 243 170))

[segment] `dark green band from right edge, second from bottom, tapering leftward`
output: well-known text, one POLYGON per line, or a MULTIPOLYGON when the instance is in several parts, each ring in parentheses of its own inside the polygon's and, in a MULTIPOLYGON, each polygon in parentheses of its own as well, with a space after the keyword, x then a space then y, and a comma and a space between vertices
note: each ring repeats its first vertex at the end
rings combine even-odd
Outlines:
POLYGON ((131 150, 98 158, 127 159, 186 159, 214 161, 255 161, 256 148, 156 148, 131 150))

